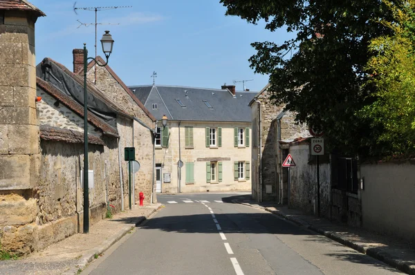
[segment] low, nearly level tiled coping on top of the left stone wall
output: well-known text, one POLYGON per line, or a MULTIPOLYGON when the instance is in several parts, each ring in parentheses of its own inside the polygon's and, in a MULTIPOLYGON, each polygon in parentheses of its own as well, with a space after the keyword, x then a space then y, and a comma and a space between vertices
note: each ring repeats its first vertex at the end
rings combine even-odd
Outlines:
MULTIPOLYGON (((84 143, 84 133, 69 129, 62 129, 59 127, 48 125, 40 125, 39 134, 42 140, 54 140, 69 143, 84 143)), ((104 142, 100 138, 95 137, 95 135, 88 135, 88 143, 104 145, 104 142)))

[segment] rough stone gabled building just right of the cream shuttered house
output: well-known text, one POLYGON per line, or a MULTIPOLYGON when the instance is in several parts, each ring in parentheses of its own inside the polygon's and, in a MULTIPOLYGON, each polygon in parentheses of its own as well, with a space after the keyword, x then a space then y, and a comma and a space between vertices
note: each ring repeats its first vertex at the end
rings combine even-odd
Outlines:
POLYGON ((267 84, 250 101, 252 112, 252 198, 286 203, 286 169, 282 162, 288 155, 280 142, 308 137, 308 129, 295 123, 295 113, 284 111, 270 99, 267 84))

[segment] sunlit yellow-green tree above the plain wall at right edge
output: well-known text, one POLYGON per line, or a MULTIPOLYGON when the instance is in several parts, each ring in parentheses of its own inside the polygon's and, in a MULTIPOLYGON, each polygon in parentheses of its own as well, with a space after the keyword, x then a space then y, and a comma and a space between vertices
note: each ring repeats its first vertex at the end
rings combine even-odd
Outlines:
POLYGON ((382 129, 376 138, 387 155, 415 152, 415 0, 394 4, 385 1, 393 21, 380 23, 393 35, 372 39, 367 64, 368 84, 376 88, 358 115, 382 129))

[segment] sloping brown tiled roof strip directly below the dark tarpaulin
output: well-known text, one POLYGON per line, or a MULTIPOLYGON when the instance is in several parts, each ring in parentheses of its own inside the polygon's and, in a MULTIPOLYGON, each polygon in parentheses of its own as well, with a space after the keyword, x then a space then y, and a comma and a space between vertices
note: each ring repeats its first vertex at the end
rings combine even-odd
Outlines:
MULTIPOLYGON (((77 115, 80 115, 80 117, 84 117, 84 106, 75 102, 75 100, 73 100, 71 97, 65 95, 64 93, 59 91, 59 89, 55 88, 55 86, 44 81, 40 77, 36 77, 36 84, 37 86, 42 88, 42 90, 44 90, 46 93, 52 95, 57 100, 59 100, 59 102, 62 102, 62 104, 64 104, 66 107, 70 108, 72 111, 77 113, 77 115)), ((116 129, 113 129, 112 126, 100 120, 90 111, 88 112, 88 122, 101 129, 104 134, 118 137, 116 129)))

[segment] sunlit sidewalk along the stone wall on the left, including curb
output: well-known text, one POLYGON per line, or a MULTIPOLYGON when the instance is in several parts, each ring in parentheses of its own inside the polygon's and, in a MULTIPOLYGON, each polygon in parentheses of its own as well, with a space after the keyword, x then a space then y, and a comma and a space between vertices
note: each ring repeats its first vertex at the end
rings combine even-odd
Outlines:
POLYGON ((77 274, 122 236, 161 209, 160 203, 133 207, 91 226, 89 234, 75 234, 19 260, 0 261, 0 274, 77 274), (96 255, 96 256, 95 256, 96 255))

